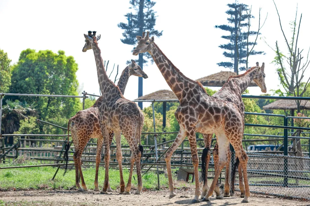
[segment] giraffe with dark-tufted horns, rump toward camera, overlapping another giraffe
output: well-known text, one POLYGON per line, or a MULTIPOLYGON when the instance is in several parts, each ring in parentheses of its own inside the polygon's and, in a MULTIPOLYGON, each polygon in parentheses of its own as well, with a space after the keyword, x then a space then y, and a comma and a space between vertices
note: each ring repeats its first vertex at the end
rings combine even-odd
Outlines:
POLYGON ((140 136, 144 124, 144 116, 138 105, 122 95, 119 88, 108 78, 105 72, 101 51, 98 47, 98 43, 94 35, 88 36, 84 34, 86 43, 83 47, 83 52, 88 49, 92 49, 95 56, 98 82, 100 85, 101 94, 103 100, 98 109, 100 117, 100 130, 104 137, 105 154, 104 154, 104 166, 105 177, 104 186, 100 193, 106 193, 108 188, 108 172, 109 172, 109 160, 110 160, 110 148, 109 148, 109 132, 114 132, 116 139, 116 156, 120 171, 120 193, 130 194, 131 189, 131 175, 125 191, 125 183, 122 174, 122 151, 121 151, 121 132, 125 136, 129 143, 132 155, 131 155, 131 168, 133 168, 134 162, 136 162, 138 187, 135 194, 140 194, 142 189, 141 179, 141 167, 140 159, 143 152, 143 147, 140 142, 140 136), (139 146, 138 146, 139 144, 139 146))

